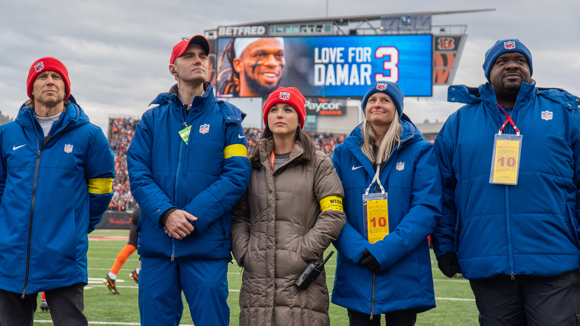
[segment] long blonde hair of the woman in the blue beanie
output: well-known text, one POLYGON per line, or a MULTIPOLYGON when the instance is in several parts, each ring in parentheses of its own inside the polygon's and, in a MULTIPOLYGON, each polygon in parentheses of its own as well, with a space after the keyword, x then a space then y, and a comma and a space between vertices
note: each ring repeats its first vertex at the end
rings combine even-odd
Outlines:
POLYGON ((398 113, 395 111, 395 116, 393 121, 389 125, 389 129, 383 136, 383 140, 380 143, 379 151, 376 154, 372 150, 374 144, 378 143, 379 139, 376 139, 376 134, 374 129, 372 129, 371 122, 367 119, 362 123, 362 140, 364 141, 361 146, 362 153, 367 155, 368 159, 371 160, 372 164, 381 164, 389 160, 393 150, 401 144, 401 122, 398 119, 398 113))

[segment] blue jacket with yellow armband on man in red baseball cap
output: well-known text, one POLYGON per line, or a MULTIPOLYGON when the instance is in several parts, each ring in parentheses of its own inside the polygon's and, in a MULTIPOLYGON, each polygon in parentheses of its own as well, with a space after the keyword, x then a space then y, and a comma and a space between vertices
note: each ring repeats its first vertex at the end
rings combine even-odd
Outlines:
POLYGON ((230 258, 231 207, 248 187, 251 165, 242 129, 245 113, 213 96, 195 96, 189 114, 176 88, 161 93, 137 122, 127 151, 131 193, 141 207, 139 255, 230 258), (191 126, 186 144, 179 131, 191 126), (170 208, 197 217, 183 240, 165 234, 161 215, 170 208))

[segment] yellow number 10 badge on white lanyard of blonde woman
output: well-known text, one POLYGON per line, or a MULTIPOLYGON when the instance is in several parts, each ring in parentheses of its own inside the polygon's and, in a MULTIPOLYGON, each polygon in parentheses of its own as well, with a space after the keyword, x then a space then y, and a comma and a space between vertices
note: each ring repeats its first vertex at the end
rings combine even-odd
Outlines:
MULTIPOLYGON (((378 169, 379 166, 377 171, 378 169)), ((367 238, 368 242, 374 244, 383 240, 389 234, 389 194, 385 193, 383 185, 380 184, 378 172, 371 186, 362 195, 362 220, 364 222, 365 238, 367 238), (380 186, 380 193, 369 194, 368 192, 375 180, 380 186)))

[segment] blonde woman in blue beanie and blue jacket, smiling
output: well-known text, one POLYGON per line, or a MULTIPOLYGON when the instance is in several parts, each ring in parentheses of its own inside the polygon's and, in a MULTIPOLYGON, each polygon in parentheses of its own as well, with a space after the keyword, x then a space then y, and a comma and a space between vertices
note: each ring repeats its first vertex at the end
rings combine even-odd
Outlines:
POLYGON ((335 148, 345 189, 345 227, 332 302, 351 326, 411 326, 435 307, 427 236, 441 216, 433 145, 403 114, 403 92, 377 82, 362 99, 365 121, 335 148))

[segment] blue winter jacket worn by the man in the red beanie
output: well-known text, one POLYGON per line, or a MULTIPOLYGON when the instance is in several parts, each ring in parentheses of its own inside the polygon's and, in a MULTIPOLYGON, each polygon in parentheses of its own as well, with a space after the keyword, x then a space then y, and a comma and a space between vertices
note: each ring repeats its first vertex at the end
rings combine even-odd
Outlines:
POLYGON ((113 151, 71 104, 49 136, 21 106, 0 126, 0 289, 37 293, 87 284, 87 234, 113 193, 113 151))

